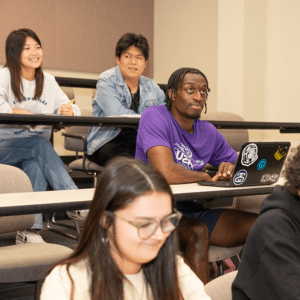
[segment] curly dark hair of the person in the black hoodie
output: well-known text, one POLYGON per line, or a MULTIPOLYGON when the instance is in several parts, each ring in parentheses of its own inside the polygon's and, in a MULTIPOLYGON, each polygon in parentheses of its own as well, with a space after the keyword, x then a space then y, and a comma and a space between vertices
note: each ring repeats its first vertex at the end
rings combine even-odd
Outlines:
POLYGON ((299 197, 298 191, 300 190, 300 146, 297 149, 292 149, 296 153, 287 158, 284 175, 286 182, 284 189, 292 195, 299 197))

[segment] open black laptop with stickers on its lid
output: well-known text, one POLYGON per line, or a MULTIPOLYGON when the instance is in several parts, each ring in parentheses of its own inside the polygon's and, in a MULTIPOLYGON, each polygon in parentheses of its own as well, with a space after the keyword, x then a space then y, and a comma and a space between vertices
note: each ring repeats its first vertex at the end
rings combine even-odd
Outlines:
POLYGON ((202 181, 198 184, 240 187, 276 183, 290 146, 290 142, 245 143, 242 145, 230 180, 202 181))

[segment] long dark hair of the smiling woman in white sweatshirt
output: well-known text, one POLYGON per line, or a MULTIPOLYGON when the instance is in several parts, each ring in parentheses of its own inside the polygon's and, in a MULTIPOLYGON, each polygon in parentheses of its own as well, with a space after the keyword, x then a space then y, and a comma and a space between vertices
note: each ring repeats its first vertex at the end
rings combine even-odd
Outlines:
MULTIPOLYGON (((22 102, 24 96, 22 94, 22 81, 21 81, 21 62, 20 56, 23 51, 26 38, 33 38, 41 47, 41 41, 38 36, 30 29, 21 28, 18 30, 12 31, 7 39, 5 44, 5 56, 6 63, 4 67, 7 67, 10 71, 11 78, 11 88, 19 102, 22 102)), ((35 93, 34 98, 39 99, 43 92, 44 87, 44 74, 42 71, 42 66, 35 70, 35 93)))

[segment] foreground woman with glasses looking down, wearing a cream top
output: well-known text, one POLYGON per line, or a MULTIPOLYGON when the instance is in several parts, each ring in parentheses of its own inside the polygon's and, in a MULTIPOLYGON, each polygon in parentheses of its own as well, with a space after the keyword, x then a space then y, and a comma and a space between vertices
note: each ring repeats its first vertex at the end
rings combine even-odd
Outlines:
POLYGON ((102 172, 75 252, 46 278, 41 299, 209 299, 177 256, 181 213, 165 178, 119 157, 102 172))

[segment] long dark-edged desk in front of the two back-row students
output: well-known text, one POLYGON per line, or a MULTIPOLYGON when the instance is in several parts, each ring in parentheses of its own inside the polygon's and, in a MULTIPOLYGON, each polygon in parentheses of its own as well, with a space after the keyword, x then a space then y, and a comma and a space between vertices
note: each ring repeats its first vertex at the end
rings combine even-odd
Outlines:
MULTIPOLYGON (((86 116, 60 116, 60 115, 22 115, 1 114, 0 124, 24 124, 24 125, 52 125, 56 128, 68 126, 110 126, 138 128, 140 115, 138 116, 110 116, 110 117, 86 117, 86 116)), ((279 130, 281 133, 300 133, 300 123, 280 122, 245 122, 245 121, 209 121, 217 129, 256 129, 279 130)))

